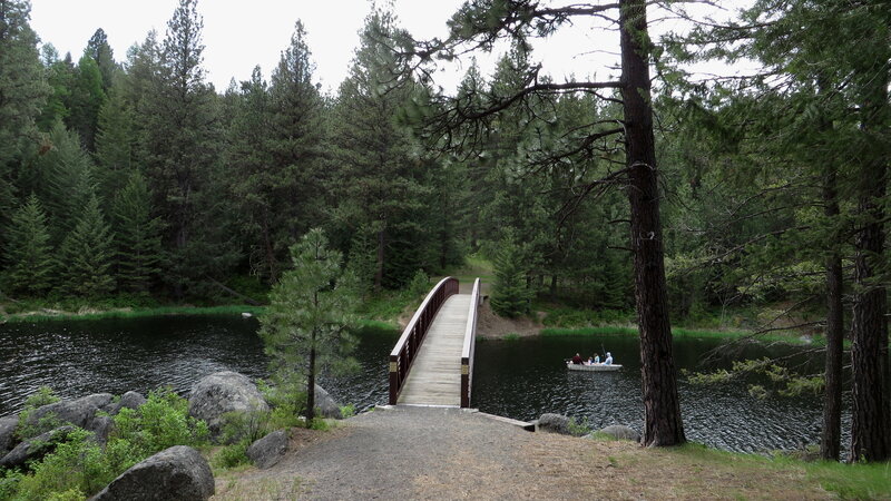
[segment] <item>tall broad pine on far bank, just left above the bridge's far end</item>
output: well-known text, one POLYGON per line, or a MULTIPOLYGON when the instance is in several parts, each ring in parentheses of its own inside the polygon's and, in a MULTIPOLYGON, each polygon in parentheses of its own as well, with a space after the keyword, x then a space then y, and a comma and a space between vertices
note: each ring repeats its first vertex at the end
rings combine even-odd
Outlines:
POLYGON ((374 233, 374 288, 400 287, 421 267, 413 238, 427 233, 422 220, 430 187, 423 184, 424 161, 409 131, 398 124, 417 91, 398 77, 391 49, 381 42, 396 31, 392 14, 372 12, 361 33, 350 76, 334 106, 332 140, 336 164, 332 181, 337 196, 335 219, 355 232, 374 233))

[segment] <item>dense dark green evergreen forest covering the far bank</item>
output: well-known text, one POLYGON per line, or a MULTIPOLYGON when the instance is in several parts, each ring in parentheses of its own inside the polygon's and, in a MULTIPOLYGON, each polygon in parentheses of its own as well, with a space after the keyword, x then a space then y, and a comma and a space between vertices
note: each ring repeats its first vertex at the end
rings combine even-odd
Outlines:
MULTIPOLYGON (((851 365, 853 458, 891 458, 891 6, 757 0, 717 23, 656 3, 694 28, 650 38, 639 0, 474 0, 415 40, 372 9, 325 94, 300 21, 270 72, 216 89, 196 0, 126 55, 97 29, 74 56, 0 0, 0 301, 265 303, 320 227, 366 298, 472 258, 502 315, 633 318, 645 382, 674 373, 669 318, 824 338, 822 454, 851 365), (541 72, 532 39, 607 14, 621 78, 541 72), (437 87, 496 42, 491 73, 437 87), (760 70, 686 70, 743 60, 760 70)), ((646 444, 685 441, 674 392, 645 384, 646 444)))

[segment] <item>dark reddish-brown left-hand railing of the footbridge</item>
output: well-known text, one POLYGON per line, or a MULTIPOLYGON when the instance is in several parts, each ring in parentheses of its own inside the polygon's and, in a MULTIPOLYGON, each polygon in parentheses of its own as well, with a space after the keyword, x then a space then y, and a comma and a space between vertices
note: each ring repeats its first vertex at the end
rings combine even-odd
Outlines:
POLYGON ((414 316, 409 321, 409 325, 402 331, 395 347, 390 352, 390 405, 395 405, 399 400, 399 392, 402 384, 409 376, 412 362, 418 356, 421 343, 424 341, 427 331, 433 323, 439 307, 452 294, 458 293, 458 278, 447 276, 441 279, 430 294, 427 295, 421 306, 414 312, 414 316))

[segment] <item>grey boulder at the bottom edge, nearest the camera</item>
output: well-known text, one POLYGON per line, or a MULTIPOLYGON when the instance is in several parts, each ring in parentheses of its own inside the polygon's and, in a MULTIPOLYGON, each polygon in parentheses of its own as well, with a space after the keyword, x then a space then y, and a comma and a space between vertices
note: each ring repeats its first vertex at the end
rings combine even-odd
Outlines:
POLYGON ((94 501, 204 501, 214 495, 210 465, 195 449, 176 445, 125 471, 94 501))

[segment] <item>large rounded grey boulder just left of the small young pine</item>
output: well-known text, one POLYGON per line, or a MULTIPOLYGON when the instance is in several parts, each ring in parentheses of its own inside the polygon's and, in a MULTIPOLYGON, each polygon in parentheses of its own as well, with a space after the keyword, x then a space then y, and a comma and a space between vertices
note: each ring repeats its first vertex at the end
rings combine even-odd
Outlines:
POLYGON ((215 436, 219 435, 225 424, 223 414, 268 410, 257 386, 237 372, 217 372, 205 376, 192 386, 188 397, 188 414, 206 421, 215 436))

